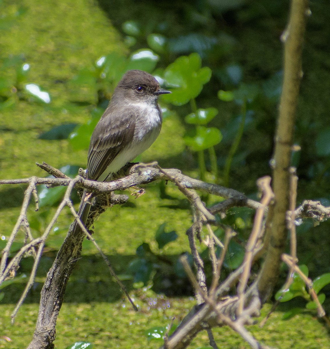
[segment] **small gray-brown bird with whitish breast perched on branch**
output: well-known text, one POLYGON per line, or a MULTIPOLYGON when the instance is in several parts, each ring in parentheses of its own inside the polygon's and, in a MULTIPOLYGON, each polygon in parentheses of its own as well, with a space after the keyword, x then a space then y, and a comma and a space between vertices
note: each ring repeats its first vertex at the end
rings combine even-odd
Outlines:
MULTIPOLYGON (((158 96, 171 93, 142 70, 128 70, 113 91, 111 101, 92 133, 86 178, 105 181, 136 156, 148 149, 162 127, 158 96)), ((78 216, 86 223, 91 194, 84 191, 78 216)), ((75 221, 73 233, 80 231, 75 221)))

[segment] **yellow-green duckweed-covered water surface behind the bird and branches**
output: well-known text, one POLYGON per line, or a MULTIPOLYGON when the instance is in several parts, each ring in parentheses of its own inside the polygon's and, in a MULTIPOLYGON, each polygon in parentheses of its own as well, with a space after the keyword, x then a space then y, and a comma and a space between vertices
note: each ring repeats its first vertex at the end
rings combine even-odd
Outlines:
MULTIPOLYGON (((59 168, 66 164, 84 166, 86 151, 73 152, 68 141, 45 141, 38 135, 53 126, 64 122, 83 123, 89 118, 85 103, 96 100, 94 91, 88 88, 74 89, 67 83, 78 70, 90 65, 103 54, 112 51, 127 53, 122 36, 114 29, 103 10, 97 3, 88 0, 70 2, 55 0, 24 0, 28 12, 18 18, 13 27, 1 31, 1 55, 24 53, 31 65, 30 80, 49 91, 52 107, 21 101, 13 110, 0 114, 0 178, 24 178, 32 175, 44 176, 44 172, 35 166, 35 162, 45 161, 59 168), (73 109, 62 108, 67 102, 78 101, 73 109)), ((7 13, 15 11, 17 3, 4 2, 7 13)), ((121 9, 121 15, 123 11, 121 9)), ((127 14, 128 16, 128 14, 127 14)), ((130 18, 123 18, 123 21, 130 18)), ((284 23, 283 23, 284 25, 284 23)), ((278 31, 282 30, 278 29, 278 31)), ((244 35, 255 35, 244 33, 244 35)), ((267 40, 267 38, 265 38, 267 40)), ((255 41, 257 42, 257 40, 255 41)), ((248 51, 260 50, 257 45, 248 51)), ((274 45, 280 46, 279 42, 274 45)), ((273 56, 272 49, 268 50, 273 56)), ((278 51, 277 51, 278 52, 278 51)), ((278 54, 278 53, 277 53, 278 54)), ((263 57, 264 55, 257 55, 263 57)), ((249 59, 247 55, 246 59, 249 59)), ((280 60, 280 55, 279 55, 280 60)), ((278 63, 280 66, 280 63, 278 63)), ((8 71, 7 74, 12 74, 8 71)), ((182 121, 173 115, 164 120, 162 133, 152 147, 142 156, 142 161, 159 161, 160 165, 186 168, 189 158, 184 152, 182 135, 185 128, 182 121)), ((24 186, 6 186, 1 189, 0 222, 1 235, 9 236, 20 211, 24 186)), ((185 199, 174 186, 168 185, 167 194, 161 199, 159 185, 148 186, 146 193, 138 199, 131 198, 125 207, 114 207, 102 215, 95 223, 95 238, 103 251, 110 255, 117 272, 124 272, 122 261, 133 258, 136 247, 148 242, 157 250, 154 234, 158 226, 167 222, 167 229, 176 230, 179 237, 175 243, 165 246, 162 253, 167 255, 188 251, 185 231, 191 218, 185 199)), ((50 214, 54 209, 50 210, 50 214)), ((35 217, 33 205, 29 209, 29 218, 35 217)), ((54 248, 59 247, 65 237, 72 218, 69 211, 63 211, 57 222, 57 231, 50 236, 49 251, 46 251, 48 264, 39 270, 36 289, 21 307, 10 325, 10 313, 14 309, 14 300, 18 294, 6 295, 0 305, 0 336, 12 339, 6 342, 0 339, 0 348, 24 348, 32 338, 38 311, 40 286, 54 258, 54 248), (48 255, 47 255, 48 253, 48 255)), ((47 220, 43 224, 46 224, 47 220)), ((117 286, 111 281, 106 266, 96 257, 96 251, 85 243, 83 257, 68 284, 58 322, 55 347, 65 348, 75 341, 87 340, 94 348, 145 348, 158 347, 148 343, 144 331, 152 326, 167 325, 170 317, 175 322, 187 313, 194 301, 190 298, 171 298, 166 300, 170 307, 158 310, 148 309, 150 297, 156 297, 148 290, 145 294, 132 291, 141 311, 134 313, 126 300, 122 300, 117 286), (124 306, 125 305, 125 306, 124 306)), ((6 291, 6 290, 4 290, 6 291)), ((158 301, 159 304, 159 297, 158 301)), ((163 301, 162 301, 163 302, 163 301)), ((266 305, 262 314, 269 310, 266 305)), ((278 348, 330 348, 327 330, 311 313, 297 315, 291 320, 280 320, 282 313, 273 313, 267 324, 260 329, 257 325, 251 331, 257 339, 271 347, 278 348)), ((248 348, 247 344, 227 327, 215 330, 215 337, 221 348, 248 348)), ((207 345, 206 333, 200 333, 192 348, 207 345)))

